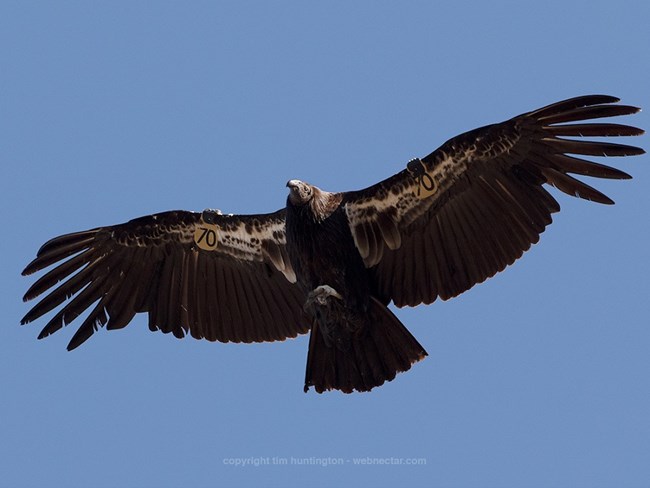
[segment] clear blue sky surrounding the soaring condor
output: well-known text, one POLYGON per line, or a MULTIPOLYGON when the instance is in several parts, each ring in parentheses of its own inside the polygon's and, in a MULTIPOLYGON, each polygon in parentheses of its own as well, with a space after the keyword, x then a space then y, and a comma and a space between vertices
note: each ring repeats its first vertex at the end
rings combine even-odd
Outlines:
POLYGON ((647 156, 609 161, 634 176, 597 182, 615 206, 556 193, 516 265, 397 310, 429 357, 370 394, 304 394, 306 336, 179 341, 139 316, 68 353, 72 327, 18 325, 53 236, 273 211, 291 178, 362 188, 571 96, 650 109, 648 2, 328 3, 0 3, 0 486, 647 486, 647 156))

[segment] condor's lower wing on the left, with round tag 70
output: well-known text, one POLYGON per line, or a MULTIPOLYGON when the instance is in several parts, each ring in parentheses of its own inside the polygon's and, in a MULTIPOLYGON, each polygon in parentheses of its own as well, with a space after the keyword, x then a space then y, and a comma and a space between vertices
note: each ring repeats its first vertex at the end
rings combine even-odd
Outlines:
POLYGON ((284 210, 264 215, 164 212, 56 237, 23 271, 54 264, 24 296, 47 293, 26 324, 70 299, 39 338, 91 309, 74 349, 100 326, 125 327, 148 312, 149 328, 221 342, 283 340, 308 331, 304 296, 285 250, 284 210), (62 282, 56 288, 57 283, 62 282))

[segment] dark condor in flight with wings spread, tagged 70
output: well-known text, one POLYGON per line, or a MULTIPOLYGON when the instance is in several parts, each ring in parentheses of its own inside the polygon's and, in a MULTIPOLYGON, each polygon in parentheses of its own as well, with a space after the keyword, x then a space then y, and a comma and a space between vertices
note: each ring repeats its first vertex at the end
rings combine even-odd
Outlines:
POLYGON ((644 153, 580 139, 643 134, 584 122, 639 111, 617 102, 577 97, 475 129, 359 191, 292 179, 273 213, 170 211, 56 237, 23 271, 56 265, 25 294, 45 296, 21 323, 65 302, 41 339, 88 311, 68 350, 141 312, 152 331, 179 338, 250 343, 310 332, 304 390, 369 391, 427 355, 391 302, 447 300, 512 264, 560 210, 545 184, 613 203, 571 175, 630 178, 578 157, 644 153))

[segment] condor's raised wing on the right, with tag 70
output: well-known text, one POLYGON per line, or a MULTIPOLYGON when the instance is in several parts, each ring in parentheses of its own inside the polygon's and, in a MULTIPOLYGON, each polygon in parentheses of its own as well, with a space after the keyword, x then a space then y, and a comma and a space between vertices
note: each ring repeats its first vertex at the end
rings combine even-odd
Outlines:
POLYGON ((613 203, 570 173, 629 175, 567 153, 644 151, 567 137, 642 134, 626 125, 582 122, 638 111, 615 102, 606 95, 577 97, 467 132, 400 173, 345 193, 342 205, 380 298, 397 306, 447 299, 512 264, 560 209, 544 183, 572 196, 613 203))

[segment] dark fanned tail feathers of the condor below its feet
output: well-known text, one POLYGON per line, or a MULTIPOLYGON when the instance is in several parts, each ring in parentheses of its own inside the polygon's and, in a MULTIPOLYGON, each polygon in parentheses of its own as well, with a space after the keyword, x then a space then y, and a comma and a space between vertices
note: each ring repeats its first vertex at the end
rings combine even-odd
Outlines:
POLYGON ((311 330, 305 392, 370 391, 424 359, 424 348, 379 301, 372 298, 366 326, 350 338, 350 347, 325 339, 317 320, 311 330))

